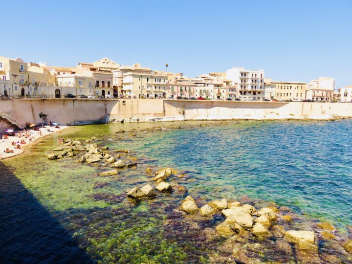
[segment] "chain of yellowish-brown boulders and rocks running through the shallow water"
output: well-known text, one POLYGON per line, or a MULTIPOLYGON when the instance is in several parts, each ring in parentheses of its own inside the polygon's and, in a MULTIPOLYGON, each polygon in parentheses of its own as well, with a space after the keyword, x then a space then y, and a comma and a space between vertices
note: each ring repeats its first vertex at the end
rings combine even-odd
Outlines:
MULTIPOLYGON (((167 129, 160 127, 130 132, 121 130, 118 132, 121 136, 117 135, 115 139, 123 140, 127 137, 132 139, 142 136, 143 132, 162 130, 167 129)), ((75 158, 79 163, 109 168, 98 174, 102 177, 118 176, 121 170, 135 170, 137 166, 144 166, 131 151, 110 150, 109 146, 104 146, 99 141, 97 137, 85 141, 67 139, 64 145, 46 152, 45 155, 50 160, 67 156, 75 158)), ((147 183, 136 184, 132 189, 126 190, 126 199, 131 200, 133 206, 144 200, 162 199, 165 195, 174 194, 175 198, 179 198, 179 203, 174 208, 173 214, 181 216, 175 224, 182 225, 180 222, 189 223, 190 220, 193 224, 204 220, 212 222, 211 226, 199 232, 209 236, 209 241, 218 238, 220 241, 218 250, 225 253, 221 253, 221 256, 210 255, 211 263, 231 261, 262 263, 265 257, 261 254, 270 250, 273 252, 284 250, 289 256, 288 262, 341 263, 342 260, 352 262, 352 234, 349 237, 340 233, 329 222, 312 219, 307 228, 300 229, 297 223, 302 222, 302 219, 288 207, 277 204, 259 207, 253 200, 239 201, 231 198, 204 202, 204 199, 194 198, 197 194, 188 194, 182 184, 178 183, 185 175, 173 168, 147 167, 145 174, 147 183), (170 180, 172 182, 168 182, 170 180), (261 249, 254 250, 253 246, 261 249), (332 253, 330 249, 333 249, 332 253), (335 255, 336 251, 338 256, 335 255)))

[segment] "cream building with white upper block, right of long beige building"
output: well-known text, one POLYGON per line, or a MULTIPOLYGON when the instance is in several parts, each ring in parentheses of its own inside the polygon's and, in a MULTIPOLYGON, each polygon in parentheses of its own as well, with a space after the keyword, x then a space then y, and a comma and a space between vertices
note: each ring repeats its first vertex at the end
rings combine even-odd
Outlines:
POLYGON ((331 102, 334 95, 335 79, 320 77, 311 80, 307 85, 306 99, 320 102, 331 102))

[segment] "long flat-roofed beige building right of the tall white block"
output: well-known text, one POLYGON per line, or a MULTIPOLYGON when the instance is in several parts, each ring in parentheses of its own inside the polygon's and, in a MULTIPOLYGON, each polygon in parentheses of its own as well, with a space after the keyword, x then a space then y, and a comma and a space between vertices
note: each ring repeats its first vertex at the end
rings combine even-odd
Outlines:
POLYGON ((306 99, 307 83, 272 81, 265 78, 264 84, 265 88, 270 88, 269 85, 275 86, 274 96, 270 95, 272 99, 294 102, 301 102, 306 99))

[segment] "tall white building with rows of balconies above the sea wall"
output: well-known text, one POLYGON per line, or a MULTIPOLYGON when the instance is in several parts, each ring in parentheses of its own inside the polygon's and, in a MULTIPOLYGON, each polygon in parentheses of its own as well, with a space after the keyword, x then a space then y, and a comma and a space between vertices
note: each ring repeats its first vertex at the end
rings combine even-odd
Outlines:
POLYGON ((264 101, 264 70, 246 70, 233 67, 226 71, 226 79, 239 90, 242 101, 264 101))

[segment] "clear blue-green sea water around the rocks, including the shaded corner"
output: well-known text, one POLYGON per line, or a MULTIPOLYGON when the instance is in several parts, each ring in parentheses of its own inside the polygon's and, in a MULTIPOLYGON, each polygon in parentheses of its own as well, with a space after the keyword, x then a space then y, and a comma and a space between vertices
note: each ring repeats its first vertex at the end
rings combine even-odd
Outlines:
MULTIPOLYGON (((216 236, 220 214, 207 219, 175 209, 187 195, 199 207, 218 198, 262 207, 271 202, 293 210, 297 229, 327 220, 348 236, 351 129, 352 120, 131 123, 73 127, 45 137, 29 154, 1 162, 0 262, 295 263, 300 256, 294 248, 285 255, 276 240, 257 248, 253 238, 230 243, 216 236), (161 126, 181 129, 143 132, 161 126), (116 133, 120 129, 126 132, 116 133), (135 137, 127 132, 132 129, 135 137), (110 153, 127 149, 138 158, 136 169, 101 177, 108 167, 69 157, 47 160, 44 152, 57 146, 58 136, 96 136, 110 153), (126 190, 152 183, 147 167, 167 166, 185 174, 170 180, 172 194, 139 203, 126 198, 126 190), (241 260, 232 256, 240 242, 247 250, 241 260)), ((352 261, 329 242, 319 244, 319 254, 352 261)))

